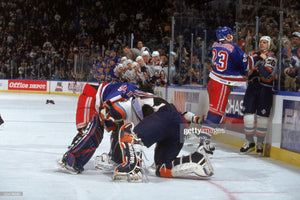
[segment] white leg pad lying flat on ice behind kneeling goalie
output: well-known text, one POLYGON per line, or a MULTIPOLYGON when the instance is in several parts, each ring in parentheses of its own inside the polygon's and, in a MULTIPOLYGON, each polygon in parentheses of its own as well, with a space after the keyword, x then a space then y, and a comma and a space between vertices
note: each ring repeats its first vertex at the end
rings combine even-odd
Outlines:
POLYGON ((203 147, 188 156, 182 156, 171 163, 162 164, 156 170, 157 176, 167 178, 183 177, 191 173, 200 177, 210 177, 214 173, 203 147))

